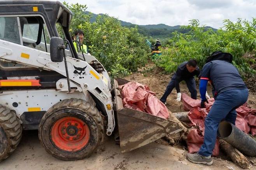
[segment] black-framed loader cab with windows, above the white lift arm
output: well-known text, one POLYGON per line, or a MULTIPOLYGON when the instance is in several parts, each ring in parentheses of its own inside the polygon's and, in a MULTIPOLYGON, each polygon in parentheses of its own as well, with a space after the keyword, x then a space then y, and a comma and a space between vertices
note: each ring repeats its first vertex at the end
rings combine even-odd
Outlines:
POLYGON ((0 39, 49 52, 51 37, 61 37, 68 56, 78 59, 68 30, 71 18, 58 1, 0 1, 0 39))

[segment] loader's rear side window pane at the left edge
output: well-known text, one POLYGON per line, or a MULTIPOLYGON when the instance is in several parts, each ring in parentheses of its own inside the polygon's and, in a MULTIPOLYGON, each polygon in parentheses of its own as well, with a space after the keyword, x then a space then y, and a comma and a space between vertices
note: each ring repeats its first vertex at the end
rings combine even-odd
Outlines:
POLYGON ((0 17, 0 39, 21 44, 17 17, 0 17))

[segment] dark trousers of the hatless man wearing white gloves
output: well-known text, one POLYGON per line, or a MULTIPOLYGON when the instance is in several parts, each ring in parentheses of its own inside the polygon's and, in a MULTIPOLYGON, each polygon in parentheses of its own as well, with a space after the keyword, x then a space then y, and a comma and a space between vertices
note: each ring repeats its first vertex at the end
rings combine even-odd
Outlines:
MULTIPOLYGON (((175 78, 176 75, 174 74, 174 76, 172 76, 171 81, 169 82, 169 84, 167 85, 167 88, 165 90, 165 93, 163 94, 163 96, 161 97, 160 101, 165 103, 166 99, 168 97, 168 95, 172 92, 172 90, 175 87, 175 78)), ((195 78, 191 77, 189 79, 184 80, 187 84, 188 90, 191 94, 191 98, 192 99, 196 99, 197 97, 197 91, 196 91, 196 82, 195 82, 195 78)))

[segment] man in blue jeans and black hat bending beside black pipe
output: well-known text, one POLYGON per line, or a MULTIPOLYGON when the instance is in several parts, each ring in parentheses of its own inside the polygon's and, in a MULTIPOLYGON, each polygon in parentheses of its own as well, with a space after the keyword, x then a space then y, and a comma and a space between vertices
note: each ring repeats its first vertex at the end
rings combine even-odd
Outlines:
POLYGON ((222 120, 235 125, 236 108, 242 106, 248 98, 245 86, 237 68, 232 63, 233 56, 229 53, 217 51, 207 58, 200 75, 201 107, 205 107, 207 82, 213 87, 215 102, 205 118, 205 132, 203 145, 198 153, 187 154, 187 159, 193 163, 212 165, 212 150, 217 137, 217 128, 222 120))

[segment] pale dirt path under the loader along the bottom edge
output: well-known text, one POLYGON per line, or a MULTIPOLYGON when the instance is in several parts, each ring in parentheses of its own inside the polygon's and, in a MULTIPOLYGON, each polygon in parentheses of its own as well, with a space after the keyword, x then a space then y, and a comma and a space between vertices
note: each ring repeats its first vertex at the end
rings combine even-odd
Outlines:
POLYGON ((128 153, 121 153, 112 137, 91 157, 62 161, 48 154, 39 142, 37 130, 26 131, 18 148, 0 163, 0 170, 239 170, 236 165, 213 158, 212 166, 196 165, 185 158, 185 151, 151 143, 128 153))

